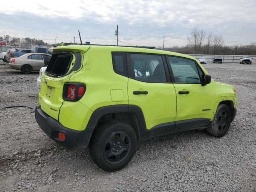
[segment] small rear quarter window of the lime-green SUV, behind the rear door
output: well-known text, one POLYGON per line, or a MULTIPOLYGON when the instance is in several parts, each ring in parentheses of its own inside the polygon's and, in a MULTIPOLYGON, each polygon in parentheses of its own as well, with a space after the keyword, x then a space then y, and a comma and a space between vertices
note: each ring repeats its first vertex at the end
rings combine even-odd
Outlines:
POLYGON ((112 53, 112 62, 114 71, 117 74, 128 76, 125 53, 112 53))

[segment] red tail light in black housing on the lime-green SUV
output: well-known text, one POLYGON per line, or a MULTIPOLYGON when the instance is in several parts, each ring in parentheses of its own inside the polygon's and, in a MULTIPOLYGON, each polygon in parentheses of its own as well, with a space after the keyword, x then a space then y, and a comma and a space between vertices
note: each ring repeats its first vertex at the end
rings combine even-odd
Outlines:
POLYGON ((86 86, 83 83, 65 83, 62 98, 66 101, 78 101, 84 96, 86 86))

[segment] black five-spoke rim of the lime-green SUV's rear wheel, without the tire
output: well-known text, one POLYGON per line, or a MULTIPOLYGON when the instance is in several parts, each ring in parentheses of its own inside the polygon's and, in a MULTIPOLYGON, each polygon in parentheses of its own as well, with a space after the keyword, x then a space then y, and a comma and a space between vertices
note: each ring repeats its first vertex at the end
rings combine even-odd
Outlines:
POLYGON ((122 162, 130 152, 131 140, 123 131, 112 133, 105 141, 104 158, 112 164, 122 162))

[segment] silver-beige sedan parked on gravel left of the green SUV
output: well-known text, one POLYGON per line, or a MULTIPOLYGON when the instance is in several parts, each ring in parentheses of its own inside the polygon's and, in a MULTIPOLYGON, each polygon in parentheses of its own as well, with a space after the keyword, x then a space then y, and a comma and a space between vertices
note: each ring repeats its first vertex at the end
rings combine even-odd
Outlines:
POLYGON ((12 69, 21 70, 24 74, 39 71, 41 67, 47 66, 51 56, 42 53, 28 53, 17 58, 11 58, 9 66, 12 69))

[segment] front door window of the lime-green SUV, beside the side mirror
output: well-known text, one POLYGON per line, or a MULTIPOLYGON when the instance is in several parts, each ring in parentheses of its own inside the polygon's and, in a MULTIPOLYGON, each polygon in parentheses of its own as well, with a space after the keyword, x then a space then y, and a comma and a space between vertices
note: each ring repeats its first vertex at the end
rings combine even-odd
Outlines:
POLYGON ((172 56, 168 56, 168 60, 176 83, 201 83, 196 62, 172 56))

